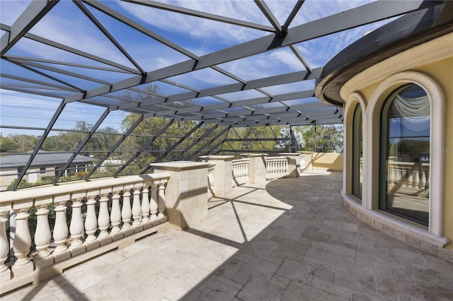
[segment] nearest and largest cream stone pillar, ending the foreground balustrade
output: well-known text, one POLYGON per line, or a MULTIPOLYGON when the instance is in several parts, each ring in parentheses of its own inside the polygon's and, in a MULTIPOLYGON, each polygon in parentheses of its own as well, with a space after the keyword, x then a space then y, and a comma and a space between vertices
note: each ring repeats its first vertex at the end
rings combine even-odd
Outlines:
POLYGON ((155 173, 170 174, 165 189, 165 213, 172 228, 184 230, 207 217, 208 165, 188 161, 151 164, 155 173))

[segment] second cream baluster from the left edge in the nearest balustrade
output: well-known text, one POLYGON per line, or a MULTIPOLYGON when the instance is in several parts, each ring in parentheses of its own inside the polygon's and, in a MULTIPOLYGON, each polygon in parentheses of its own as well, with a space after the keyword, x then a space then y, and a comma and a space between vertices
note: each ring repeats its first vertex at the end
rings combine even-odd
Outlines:
POLYGON ((13 265, 12 272, 15 277, 24 273, 33 271, 33 264, 28 258, 31 247, 30 230, 28 230, 28 209, 30 207, 15 208, 16 215, 16 236, 14 237, 13 249, 16 256, 16 262, 13 265))

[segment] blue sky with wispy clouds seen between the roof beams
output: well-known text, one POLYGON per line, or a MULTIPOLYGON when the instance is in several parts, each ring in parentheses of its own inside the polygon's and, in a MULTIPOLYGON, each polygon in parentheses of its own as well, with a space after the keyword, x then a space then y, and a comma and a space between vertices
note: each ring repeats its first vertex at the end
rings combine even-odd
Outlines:
MULTIPOLYGON (((221 16, 230 18, 238 18, 241 20, 251 21, 253 23, 262 23, 270 25, 263 13, 260 12, 258 6, 253 1, 166 1, 169 4, 184 6, 187 8, 207 11, 221 16)), ((287 16, 294 7, 296 1, 266 1, 266 4, 275 14, 277 20, 281 24, 285 23, 287 16)), ((345 11, 349 8, 367 4, 370 1, 323 1, 323 0, 308 0, 302 6, 300 13, 294 18, 292 26, 301 25, 311 20, 329 16, 333 13, 345 11)), ((0 1, 1 23, 11 25, 21 11, 25 9, 30 1, 0 1)), ((210 52, 231 47, 241 42, 268 35, 263 31, 241 28, 236 25, 228 25, 212 20, 200 19, 191 16, 185 16, 167 11, 146 8, 137 6, 122 1, 105 1, 106 5, 111 6, 128 18, 136 20, 145 27, 154 30, 159 35, 177 45, 187 48, 190 52, 200 56, 210 52)), ((127 52, 141 66, 144 66, 145 71, 152 71, 176 64, 179 61, 185 61, 188 57, 180 54, 173 49, 162 45, 155 40, 144 36, 142 33, 135 33, 124 24, 99 13, 95 9, 88 6, 88 9, 96 18, 101 20, 101 23, 107 28, 117 40, 122 43, 127 52)), ((336 35, 321 37, 316 40, 300 43, 296 45, 306 61, 312 67, 319 67, 326 64, 336 53, 344 47, 350 45, 367 30, 373 30, 381 26, 383 22, 366 25, 362 28, 355 28, 336 35)), ((40 35, 41 37, 51 38, 64 45, 74 47, 76 49, 91 52, 99 57, 108 58, 119 64, 124 64, 133 68, 134 66, 127 60, 121 52, 116 49, 112 43, 101 33, 96 26, 88 21, 81 11, 76 8, 72 1, 60 1, 52 11, 47 14, 38 25, 35 25, 30 33, 40 35)), ((4 31, 1 31, 1 35, 4 31)), ((27 57, 52 57, 60 61, 78 61, 80 64, 91 64, 96 66, 105 66, 102 63, 94 62, 91 59, 81 59, 74 54, 69 54, 61 49, 42 45, 31 40, 21 40, 8 54, 17 54, 27 57)), ((277 74, 287 73, 291 71, 303 70, 303 66, 297 60, 297 57, 289 49, 277 49, 275 51, 266 52, 253 57, 247 57, 238 61, 232 61, 222 64, 221 67, 226 71, 236 74, 246 81, 262 78, 265 76, 273 76, 277 74)), ((9 68, 18 68, 5 64, 2 61, 1 72, 7 73, 9 68)), ((68 71, 74 71, 75 67, 64 67, 68 71)), ((28 71, 23 71, 28 72, 28 71)), ((46 71, 47 73, 50 73, 46 71)), ((87 76, 95 78, 103 78, 105 81, 120 81, 127 78, 130 74, 108 71, 89 71, 87 76)), ((35 79, 47 81, 50 80, 44 77, 35 76, 35 79)), ((194 88, 208 88, 215 85, 225 85, 231 83, 231 78, 224 76, 222 73, 213 71, 212 69, 200 70, 195 73, 175 76, 170 78, 171 81, 176 81, 183 85, 190 85, 194 88)), ((3 80, 3 79, 2 79, 3 80)), ((68 76, 68 81, 74 83, 81 88, 89 90, 97 85, 88 81, 68 76)), ((314 88, 314 83, 307 83, 307 90, 314 88)), ((299 87, 300 88, 300 87, 299 87)), ((269 93, 282 93, 282 91, 292 92, 291 85, 274 86, 267 88, 269 93)), ((161 84, 159 93, 170 94, 174 93, 166 85, 161 84)), ((245 94, 253 94, 252 91, 243 93, 240 97, 245 97, 245 94)), ((247 96, 246 95, 246 96, 247 96)), ((25 95, 13 91, 0 90, 0 114, 1 125, 17 125, 17 126, 47 126, 50 118, 52 118, 55 108, 59 105, 58 99, 46 98, 36 95, 25 95)), ((77 120, 84 120, 94 124, 103 112, 103 108, 85 104, 71 104, 64 114, 60 117, 55 125, 58 129, 72 129, 77 120)), ((120 128, 120 120, 124 116, 122 112, 113 112, 105 121, 103 126, 113 126, 120 128)), ((30 131, 24 131, 30 134, 30 131)), ((4 136, 8 134, 24 134, 16 129, 1 129, 4 136)))

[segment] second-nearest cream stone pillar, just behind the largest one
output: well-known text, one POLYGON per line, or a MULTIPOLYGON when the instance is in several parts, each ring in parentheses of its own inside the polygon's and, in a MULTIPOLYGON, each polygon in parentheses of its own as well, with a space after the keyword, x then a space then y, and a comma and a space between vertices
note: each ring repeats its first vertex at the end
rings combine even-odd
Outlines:
POLYGON ((203 155, 200 159, 206 163, 215 164, 214 196, 223 197, 231 193, 233 186, 233 169, 231 160, 234 155, 203 155))

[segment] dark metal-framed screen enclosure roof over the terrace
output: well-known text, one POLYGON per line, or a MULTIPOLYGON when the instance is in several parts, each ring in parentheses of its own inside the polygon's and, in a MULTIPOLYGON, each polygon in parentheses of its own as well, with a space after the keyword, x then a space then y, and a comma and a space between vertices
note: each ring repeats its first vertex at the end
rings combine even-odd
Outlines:
POLYGON ((323 66, 370 31, 440 4, 0 1, 1 131, 40 137, 27 167, 47 136, 75 131, 74 121, 82 120, 85 124, 78 124, 77 130, 86 136, 71 149, 69 165, 101 125, 119 129, 124 124, 118 120, 139 114, 129 129, 112 135, 117 142, 108 151, 99 151, 96 170, 105 160, 117 162, 120 155, 115 150, 142 120, 170 120, 149 142, 122 148, 132 155, 121 157, 122 166, 112 173, 116 176, 173 122, 196 125, 156 160, 178 148, 185 153, 189 146, 209 151, 215 145, 208 147, 202 139, 210 137, 212 143, 237 127, 338 124, 343 122, 342 107, 314 96, 323 66), (209 129, 181 148, 181 141, 207 124, 209 129), (222 126, 225 130, 217 134, 222 126))

